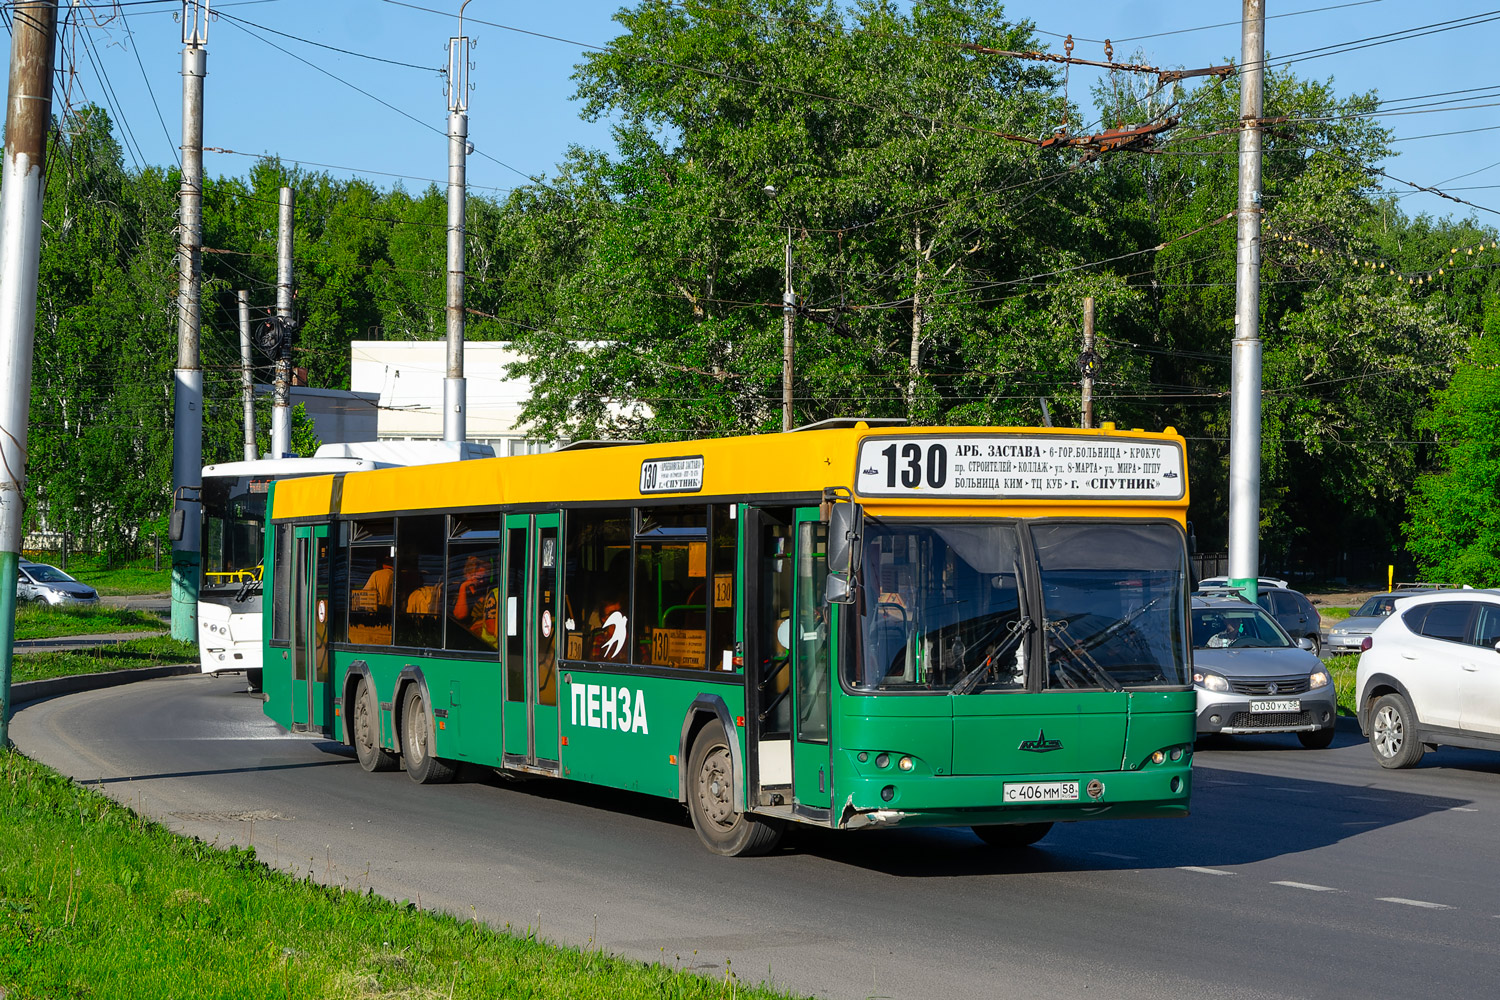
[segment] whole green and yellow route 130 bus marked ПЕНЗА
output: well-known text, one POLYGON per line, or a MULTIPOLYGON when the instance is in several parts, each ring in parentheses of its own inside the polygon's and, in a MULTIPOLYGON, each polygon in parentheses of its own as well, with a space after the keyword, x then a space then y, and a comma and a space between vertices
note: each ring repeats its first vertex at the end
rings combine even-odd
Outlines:
POLYGON ((1173 429, 843 421, 272 489, 266 714, 366 771, 675 798, 720 855, 1188 811, 1173 429))

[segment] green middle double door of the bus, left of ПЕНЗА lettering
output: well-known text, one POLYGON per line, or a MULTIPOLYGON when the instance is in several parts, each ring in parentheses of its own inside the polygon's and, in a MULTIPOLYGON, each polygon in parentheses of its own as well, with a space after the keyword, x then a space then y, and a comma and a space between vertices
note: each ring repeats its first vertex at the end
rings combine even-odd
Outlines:
POLYGON ((506 763, 558 774, 558 514, 506 517, 506 763))

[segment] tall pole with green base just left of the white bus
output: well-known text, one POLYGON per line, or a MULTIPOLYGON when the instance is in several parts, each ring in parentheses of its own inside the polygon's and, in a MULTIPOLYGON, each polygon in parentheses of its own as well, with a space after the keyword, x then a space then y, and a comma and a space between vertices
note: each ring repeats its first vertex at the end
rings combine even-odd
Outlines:
POLYGON ((172 406, 172 498, 192 504, 172 540, 172 639, 198 637, 198 535, 202 486, 202 78, 208 73, 208 0, 183 0, 183 174, 177 219, 177 369, 172 406))

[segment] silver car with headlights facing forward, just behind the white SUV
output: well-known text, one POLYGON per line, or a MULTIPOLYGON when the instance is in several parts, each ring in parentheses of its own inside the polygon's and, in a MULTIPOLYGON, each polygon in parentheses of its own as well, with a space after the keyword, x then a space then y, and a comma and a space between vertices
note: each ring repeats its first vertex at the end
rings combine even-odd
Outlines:
POLYGON ((1338 696, 1311 645, 1250 601, 1192 598, 1198 733, 1296 733, 1308 750, 1332 745, 1338 696))

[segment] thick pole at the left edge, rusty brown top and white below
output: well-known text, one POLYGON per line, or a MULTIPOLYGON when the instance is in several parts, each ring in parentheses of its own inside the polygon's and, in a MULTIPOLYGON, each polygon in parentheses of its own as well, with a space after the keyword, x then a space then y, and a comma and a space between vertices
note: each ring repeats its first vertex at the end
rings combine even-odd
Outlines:
POLYGON ((10 745, 10 660, 21 562, 26 438, 32 414, 32 339, 52 121, 56 3, 12 7, 10 91, 0 180, 0 748, 10 745))

